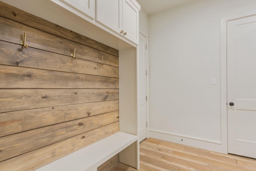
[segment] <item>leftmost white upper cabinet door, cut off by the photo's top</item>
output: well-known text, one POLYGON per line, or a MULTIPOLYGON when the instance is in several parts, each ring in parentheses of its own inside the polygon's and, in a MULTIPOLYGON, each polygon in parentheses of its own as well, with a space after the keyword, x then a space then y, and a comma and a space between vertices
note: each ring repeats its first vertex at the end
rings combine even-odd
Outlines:
MULTIPOLYGON (((56 0, 53 0, 56 2, 56 0)), ((95 18, 95 0, 59 0, 71 6, 75 10, 89 16, 90 18, 95 18)), ((57 2, 58 3, 58 0, 57 2)), ((61 4, 60 4, 61 5, 61 4)), ((64 6, 65 8, 65 6, 64 6)), ((68 9, 69 10, 69 9, 68 9)), ((71 10, 74 12, 73 10, 71 10)), ((76 14, 76 12, 74 12, 76 14)))

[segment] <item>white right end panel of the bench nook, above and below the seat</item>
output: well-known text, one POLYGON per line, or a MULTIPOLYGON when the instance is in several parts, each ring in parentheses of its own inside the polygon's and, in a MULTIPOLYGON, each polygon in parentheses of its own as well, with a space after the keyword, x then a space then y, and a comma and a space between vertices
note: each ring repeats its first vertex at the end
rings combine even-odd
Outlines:
MULTIPOLYGON (((137 49, 119 51, 119 129, 138 136, 137 49), (133 100, 132 100, 133 99, 133 100)), ((119 154, 120 162, 139 169, 139 143, 119 154)))

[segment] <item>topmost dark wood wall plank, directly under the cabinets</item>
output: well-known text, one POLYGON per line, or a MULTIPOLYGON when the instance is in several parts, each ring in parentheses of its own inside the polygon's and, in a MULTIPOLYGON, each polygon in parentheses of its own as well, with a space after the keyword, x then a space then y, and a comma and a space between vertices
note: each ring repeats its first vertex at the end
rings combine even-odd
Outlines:
POLYGON ((0 2, 0 16, 118 56, 118 50, 0 2))

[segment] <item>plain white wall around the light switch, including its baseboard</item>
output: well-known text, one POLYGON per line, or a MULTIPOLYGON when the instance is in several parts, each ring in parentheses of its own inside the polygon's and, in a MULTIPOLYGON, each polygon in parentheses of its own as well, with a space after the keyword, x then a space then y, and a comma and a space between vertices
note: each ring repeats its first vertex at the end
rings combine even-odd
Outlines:
POLYGON ((149 16, 150 137, 222 151, 220 19, 255 7, 195 0, 149 16))

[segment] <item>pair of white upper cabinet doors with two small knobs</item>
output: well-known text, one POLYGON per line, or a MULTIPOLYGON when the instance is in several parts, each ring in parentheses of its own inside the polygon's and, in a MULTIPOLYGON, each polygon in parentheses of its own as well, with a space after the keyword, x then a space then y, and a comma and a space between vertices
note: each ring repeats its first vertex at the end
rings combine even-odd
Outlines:
POLYGON ((96 21, 138 44, 139 10, 135 0, 96 0, 96 21))

